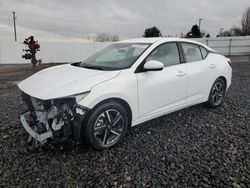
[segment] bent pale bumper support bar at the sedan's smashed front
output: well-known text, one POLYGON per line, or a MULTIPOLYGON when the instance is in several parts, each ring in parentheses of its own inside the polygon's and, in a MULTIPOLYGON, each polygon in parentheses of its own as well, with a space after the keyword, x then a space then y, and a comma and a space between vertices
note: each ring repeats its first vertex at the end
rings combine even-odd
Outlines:
POLYGON ((22 115, 20 115, 20 120, 21 123, 24 127, 24 129, 30 134, 30 136, 32 136, 35 140, 39 141, 41 144, 47 142, 48 138, 53 137, 52 132, 51 131, 47 131, 45 133, 42 134, 38 134, 37 132, 35 132, 27 123, 26 121, 26 117, 30 116, 30 112, 26 112, 22 115))

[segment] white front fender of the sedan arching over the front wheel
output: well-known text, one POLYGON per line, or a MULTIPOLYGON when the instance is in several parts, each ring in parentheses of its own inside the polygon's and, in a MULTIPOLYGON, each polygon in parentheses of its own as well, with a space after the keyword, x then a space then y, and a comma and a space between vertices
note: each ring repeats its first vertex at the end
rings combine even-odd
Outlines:
POLYGON ((123 70, 114 79, 95 85, 78 104, 92 109, 98 103, 111 98, 126 101, 132 111, 132 121, 138 118, 137 78, 132 71, 123 70))

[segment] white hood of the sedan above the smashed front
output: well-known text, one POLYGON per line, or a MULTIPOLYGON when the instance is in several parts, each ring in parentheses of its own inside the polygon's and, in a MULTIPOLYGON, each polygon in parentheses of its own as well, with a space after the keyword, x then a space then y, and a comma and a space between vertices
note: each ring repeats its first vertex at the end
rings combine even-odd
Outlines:
POLYGON ((48 100, 90 91, 94 85, 115 78, 119 72, 66 64, 39 71, 18 87, 32 97, 48 100))

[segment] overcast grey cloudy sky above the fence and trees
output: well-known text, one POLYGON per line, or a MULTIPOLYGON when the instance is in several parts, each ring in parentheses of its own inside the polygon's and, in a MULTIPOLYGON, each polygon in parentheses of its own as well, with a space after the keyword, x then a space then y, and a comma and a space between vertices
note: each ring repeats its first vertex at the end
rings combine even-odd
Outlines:
POLYGON ((42 40, 94 39, 98 33, 138 38, 156 26, 164 36, 181 36, 201 21, 201 31, 240 26, 249 0, 0 0, 0 38, 34 35, 42 40))

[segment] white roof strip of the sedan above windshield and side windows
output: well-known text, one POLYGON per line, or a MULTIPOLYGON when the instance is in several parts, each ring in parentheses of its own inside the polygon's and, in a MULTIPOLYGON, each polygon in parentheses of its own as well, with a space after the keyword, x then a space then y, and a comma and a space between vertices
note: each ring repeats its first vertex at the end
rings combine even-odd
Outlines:
POLYGON ((200 43, 200 42, 196 42, 194 40, 190 40, 190 39, 184 39, 184 38, 174 38, 174 37, 149 37, 149 38, 136 38, 136 39, 128 39, 128 40, 122 40, 119 41, 118 43, 149 43, 149 44, 153 44, 156 42, 171 42, 171 41, 175 41, 175 42, 190 42, 190 43, 194 43, 194 44, 198 44, 200 46, 203 46, 207 49, 209 49, 210 51, 214 51, 213 49, 209 48, 208 46, 200 43))

